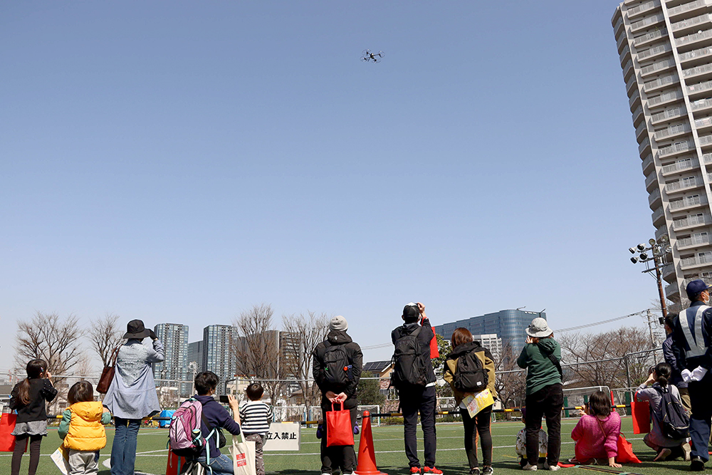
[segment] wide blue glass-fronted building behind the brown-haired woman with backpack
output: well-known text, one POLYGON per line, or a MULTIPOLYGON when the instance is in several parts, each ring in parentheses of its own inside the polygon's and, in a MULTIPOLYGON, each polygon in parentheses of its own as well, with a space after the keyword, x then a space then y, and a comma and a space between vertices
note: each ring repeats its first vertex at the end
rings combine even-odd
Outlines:
MULTIPOLYGON (((526 312, 524 310, 499 310, 495 313, 486 313, 477 317, 457 320, 453 323, 444 323, 434 327, 435 333, 450 339, 456 328, 467 328, 470 333, 480 337, 487 337, 488 344, 493 338, 501 338, 501 342, 495 343, 500 348, 509 348, 510 352, 518 352, 524 347, 524 340, 527 338, 525 328, 529 326, 534 318, 546 318, 544 312, 526 312), (493 337, 493 335, 496 335, 493 337)), ((483 341, 483 346, 484 341, 483 341)), ((491 348, 490 348, 491 350, 491 348)))

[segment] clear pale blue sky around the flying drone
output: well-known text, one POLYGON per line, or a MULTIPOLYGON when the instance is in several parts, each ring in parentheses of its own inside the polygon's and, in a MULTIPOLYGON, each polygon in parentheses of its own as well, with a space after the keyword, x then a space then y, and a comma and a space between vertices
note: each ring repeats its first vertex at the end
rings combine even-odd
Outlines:
POLYGON ((38 310, 193 341, 271 303, 367 346, 409 301, 554 328, 647 308, 616 6, 4 2, 0 370, 38 310))

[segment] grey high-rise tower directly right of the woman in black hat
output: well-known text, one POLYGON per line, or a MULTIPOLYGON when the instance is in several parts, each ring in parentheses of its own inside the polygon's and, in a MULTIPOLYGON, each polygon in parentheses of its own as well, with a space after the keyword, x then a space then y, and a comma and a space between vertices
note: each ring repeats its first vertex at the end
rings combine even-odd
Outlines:
MULTIPOLYGON (((159 323, 153 328, 156 336, 163 343, 166 359, 153 365, 153 376, 161 380, 184 381, 188 367, 188 325, 178 323, 159 323)), ((164 383, 167 385, 169 383, 164 383)), ((177 384, 170 384, 178 387, 177 384)), ((187 385, 181 385, 184 393, 187 385)))

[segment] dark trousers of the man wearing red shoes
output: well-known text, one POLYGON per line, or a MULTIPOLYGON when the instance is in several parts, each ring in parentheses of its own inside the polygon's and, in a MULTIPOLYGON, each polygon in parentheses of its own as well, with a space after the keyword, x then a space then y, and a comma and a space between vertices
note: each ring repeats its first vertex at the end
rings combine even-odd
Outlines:
POLYGON ((399 390, 401 412, 403 413, 403 432, 405 439, 405 454, 409 466, 420 466, 418 459, 418 413, 420 426, 423 429, 423 445, 425 449, 425 466, 435 466, 435 387, 414 387, 399 390))

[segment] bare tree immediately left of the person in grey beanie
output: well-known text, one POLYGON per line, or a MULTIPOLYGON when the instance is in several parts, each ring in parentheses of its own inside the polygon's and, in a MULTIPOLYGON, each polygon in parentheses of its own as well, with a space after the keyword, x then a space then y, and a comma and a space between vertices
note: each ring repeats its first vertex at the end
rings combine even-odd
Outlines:
POLYGON ((310 379, 312 370, 312 352, 315 346, 326 338, 329 328, 328 318, 325 313, 317 315, 308 311, 307 315, 283 315, 282 325, 286 333, 286 340, 290 348, 281 348, 282 372, 287 377, 298 380, 299 387, 304 395, 304 405, 315 406, 319 404, 319 388, 310 379))

